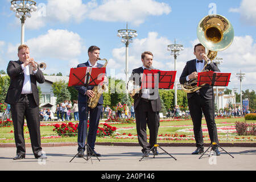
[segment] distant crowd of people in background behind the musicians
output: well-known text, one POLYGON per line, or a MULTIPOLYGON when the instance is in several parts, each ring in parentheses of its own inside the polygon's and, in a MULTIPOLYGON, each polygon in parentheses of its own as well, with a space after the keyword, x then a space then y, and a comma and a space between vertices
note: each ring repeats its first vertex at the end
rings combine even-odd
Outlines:
MULTIPOLYGON (((241 112, 241 110, 238 108, 224 107, 224 109, 220 109, 218 113, 216 112, 215 115, 216 117, 240 117, 248 113, 250 113, 249 110, 242 110, 241 112)), ((55 112, 52 112, 50 109, 41 109, 39 115, 41 121, 51 121, 52 117, 57 117, 57 121, 71 121, 72 118, 74 118, 75 121, 79 121, 78 104, 76 100, 74 100, 73 103, 65 100, 56 105, 55 112)), ((167 118, 189 117, 189 115, 190 113, 188 109, 181 110, 179 106, 175 106, 174 108, 170 107, 166 113, 167 118)), ((118 104, 113 107, 106 105, 103 107, 101 112, 100 119, 102 118, 135 119, 134 104, 132 103, 130 107, 127 104, 121 104, 121 102, 118 102, 118 104)))

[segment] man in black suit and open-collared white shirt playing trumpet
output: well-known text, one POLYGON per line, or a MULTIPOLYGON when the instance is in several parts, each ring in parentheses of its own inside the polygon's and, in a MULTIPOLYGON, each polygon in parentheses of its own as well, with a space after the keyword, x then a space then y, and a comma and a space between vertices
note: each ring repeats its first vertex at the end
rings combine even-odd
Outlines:
POLYGON ((46 159, 42 154, 40 121, 39 121, 39 96, 36 81, 42 84, 44 76, 38 69, 33 58, 30 58, 30 49, 26 45, 18 47, 18 61, 10 61, 7 74, 10 76, 10 86, 5 102, 11 105, 11 117, 14 124, 14 138, 16 156, 14 160, 26 156, 23 134, 24 117, 26 117, 32 151, 35 158, 46 159))

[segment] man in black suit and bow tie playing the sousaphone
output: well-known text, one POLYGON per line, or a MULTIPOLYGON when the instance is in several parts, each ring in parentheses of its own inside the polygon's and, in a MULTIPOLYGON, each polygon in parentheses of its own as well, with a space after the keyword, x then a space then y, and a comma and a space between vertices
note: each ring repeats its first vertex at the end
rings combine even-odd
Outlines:
MULTIPOLYGON (((201 72, 204 65, 207 64, 207 61, 205 60, 208 60, 206 69, 209 71, 220 72, 217 65, 212 63, 207 55, 205 55, 205 47, 202 44, 196 44, 194 47, 194 55, 196 56, 196 59, 187 61, 183 72, 181 73, 180 84, 184 84, 192 78, 197 78, 197 73, 201 72)), ((214 96, 212 93, 213 87, 205 86, 196 92, 187 94, 188 107, 193 121, 193 130, 197 147, 192 154, 201 154, 204 152, 204 140, 201 128, 202 111, 207 122, 210 140, 211 142, 218 143, 217 127, 214 121, 214 96)), ((213 150, 217 155, 220 155, 217 147, 213 148, 213 150)))

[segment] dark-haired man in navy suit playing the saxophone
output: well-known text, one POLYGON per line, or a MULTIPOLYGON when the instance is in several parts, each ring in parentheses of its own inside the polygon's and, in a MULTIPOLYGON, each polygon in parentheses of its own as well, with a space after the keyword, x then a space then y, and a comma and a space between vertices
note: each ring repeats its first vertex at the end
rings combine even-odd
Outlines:
MULTIPOLYGON (((103 65, 100 63, 97 63, 98 58, 100 57, 100 48, 97 46, 90 46, 88 49, 88 56, 89 60, 86 63, 81 63, 77 65, 77 68, 81 67, 92 67, 92 68, 101 68, 103 65)), ((104 83, 108 83, 108 77, 104 77, 104 83)), ((79 156, 80 158, 84 156, 84 151, 85 151, 85 142, 86 142, 86 127, 87 127, 87 114, 89 110, 89 131, 88 131, 88 144, 89 147, 93 151, 88 151, 91 152, 90 155, 96 155, 96 156, 101 156, 98 154, 96 151, 94 151, 94 145, 96 141, 96 135, 97 135, 97 130, 98 130, 98 124, 100 122, 100 115, 102 111, 102 104, 103 104, 103 97, 101 95, 100 100, 98 101, 98 104, 95 108, 91 109, 88 107, 88 99, 89 97, 92 98, 94 97, 94 92, 93 92, 93 86, 88 86, 87 88, 85 86, 75 86, 75 88, 79 92, 78 96, 78 106, 79 106, 79 126, 78 126, 78 137, 77 137, 77 143, 78 143, 78 148, 77 151, 79 151, 79 156), (86 110, 86 107, 88 110, 86 110), (82 149, 82 150, 81 150, 82 149)))

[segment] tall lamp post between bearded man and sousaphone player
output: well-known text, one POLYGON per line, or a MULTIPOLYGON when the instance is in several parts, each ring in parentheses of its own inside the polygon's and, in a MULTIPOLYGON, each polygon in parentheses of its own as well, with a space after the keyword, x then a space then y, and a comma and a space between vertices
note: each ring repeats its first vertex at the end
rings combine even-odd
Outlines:
MULTIPOLYGON (((167 46, 167 51, 171 51, 171 55, 174 55, 174 71, 176 71, 176 59, 177 56, 180 55, 180 51, 183 51, 183 46, 180 44, 176 44, 176 40, 174 40, 174 44, 167 46)), ((174 92, 174 105, 177 105, 177 83, 175 77, 175 92, 174 92)))

